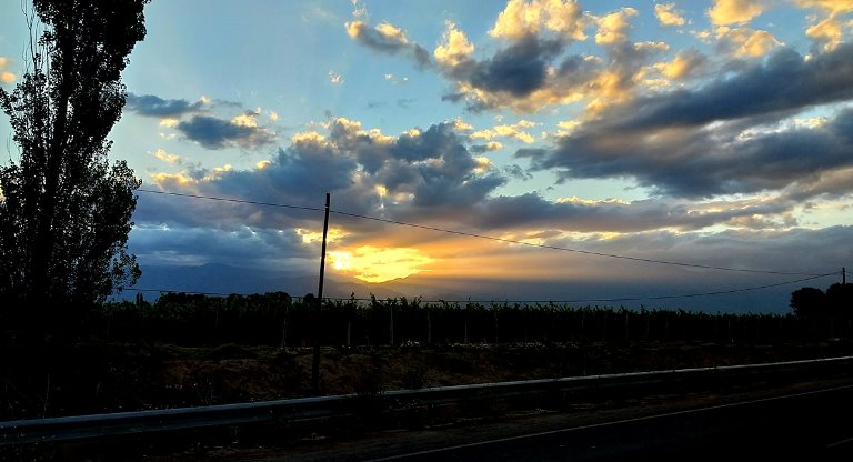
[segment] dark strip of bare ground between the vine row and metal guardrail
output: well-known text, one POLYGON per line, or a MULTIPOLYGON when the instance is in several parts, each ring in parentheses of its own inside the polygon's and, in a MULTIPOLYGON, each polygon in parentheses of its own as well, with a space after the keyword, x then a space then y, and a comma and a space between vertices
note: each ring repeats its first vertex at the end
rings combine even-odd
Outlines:
MULTIPOLYGON (((77 342, 4 349, 0 420, 185 408, 311 395, 310 348, 77 342)), ((320 394, 853 354, 853 342, 466 343, 323 348, 320 394)))

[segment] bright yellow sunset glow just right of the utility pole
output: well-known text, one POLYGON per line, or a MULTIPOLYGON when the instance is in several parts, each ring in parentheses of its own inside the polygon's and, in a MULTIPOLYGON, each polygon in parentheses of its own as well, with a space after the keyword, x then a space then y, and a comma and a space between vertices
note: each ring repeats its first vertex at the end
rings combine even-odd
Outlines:
POLYGON ((424 271, 424 265, 435 262, 418 249, 372 245, 329 252, 329 260, 337 271, 371 283, 405 278, 424 271))

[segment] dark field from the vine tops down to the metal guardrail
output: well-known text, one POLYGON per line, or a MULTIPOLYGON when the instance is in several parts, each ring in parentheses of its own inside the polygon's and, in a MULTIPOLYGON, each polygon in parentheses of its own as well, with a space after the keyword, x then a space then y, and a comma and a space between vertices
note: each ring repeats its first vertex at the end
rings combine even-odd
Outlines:
POLYGON ((282 294, 173 295, 103 305, 74 335, 7 332, 0 419, 307 396, 315 319, 321 394, 853 353, 850 320, 405 300, 314 309, 282 294))

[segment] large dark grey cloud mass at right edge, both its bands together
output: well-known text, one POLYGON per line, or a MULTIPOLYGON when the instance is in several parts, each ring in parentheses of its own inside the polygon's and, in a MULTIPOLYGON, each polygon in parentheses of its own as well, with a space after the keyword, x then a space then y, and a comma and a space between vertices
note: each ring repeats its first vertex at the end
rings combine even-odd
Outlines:
POLYGON ((530 158, 533 170, 555 170, 561 181, 632 178, 678 197, 779 190, 853 165, 852 109, 816 128, 775 127, 799 110, 847 98, 853 47, 809 61, 787 50, 698 90, 614 108, 552 150, 515 155, 530 158))

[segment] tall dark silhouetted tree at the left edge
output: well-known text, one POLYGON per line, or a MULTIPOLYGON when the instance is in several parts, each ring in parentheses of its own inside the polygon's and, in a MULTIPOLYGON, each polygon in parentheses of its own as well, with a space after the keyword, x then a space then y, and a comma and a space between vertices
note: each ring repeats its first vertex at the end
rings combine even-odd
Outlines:
POLYGON ((33 0, 27 72, 0 89, 19 147, 0 165, 0 315, 26 305, 62 319, 141 273, 127 252, 141 183, 124 161, 109 164, 107 135, 148 1, 33 0))

